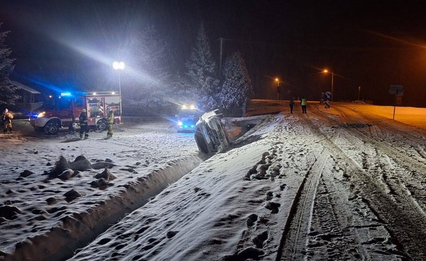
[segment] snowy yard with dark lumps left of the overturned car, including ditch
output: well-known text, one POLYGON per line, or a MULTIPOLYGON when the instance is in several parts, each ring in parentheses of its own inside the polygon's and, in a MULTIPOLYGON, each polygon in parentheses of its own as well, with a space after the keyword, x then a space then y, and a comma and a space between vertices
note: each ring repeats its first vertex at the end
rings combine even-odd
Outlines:
POLYGON ((111 139, 104 132, 91 132, 87 140, 38 135, 18 121, 14 129, 0 137, 5 260, 71 256, 202 161, 193 137, 175 133, 168 122, 117 126, 111 139), (78 159, 89 161, 79 164, 80 171, 52 177, 60 157, 74 166, 78 159), (110 175, 100 177, 105 166, 110 175))

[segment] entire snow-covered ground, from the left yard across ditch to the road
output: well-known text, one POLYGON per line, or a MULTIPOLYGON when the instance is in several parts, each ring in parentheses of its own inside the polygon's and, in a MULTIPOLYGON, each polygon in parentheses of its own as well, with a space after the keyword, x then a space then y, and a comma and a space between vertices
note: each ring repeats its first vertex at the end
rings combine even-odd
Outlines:
POLYGON ((256 101, 249 113, 261 111, 282 113, 205 159, 168 122, 106 140, 1 136, 3 258, 426 260, 426 109, 392 120, 393 107, 256 101), (91 169, 43 174, 60 155, 91 169), (99 182, 105 166, 116 179, 99 182))

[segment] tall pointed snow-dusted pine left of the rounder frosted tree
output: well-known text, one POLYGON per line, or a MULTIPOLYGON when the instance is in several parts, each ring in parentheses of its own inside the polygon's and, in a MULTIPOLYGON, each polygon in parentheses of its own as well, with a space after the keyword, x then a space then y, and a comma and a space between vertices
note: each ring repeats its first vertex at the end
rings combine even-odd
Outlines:
POLYGON ((197 41, 192 49, 190 60, 186 62, 186 68, 199 106, 205 110, 216 109, 219 80, 216 78, 216 63, 212 58, 203 24, 199 28, 197 41))

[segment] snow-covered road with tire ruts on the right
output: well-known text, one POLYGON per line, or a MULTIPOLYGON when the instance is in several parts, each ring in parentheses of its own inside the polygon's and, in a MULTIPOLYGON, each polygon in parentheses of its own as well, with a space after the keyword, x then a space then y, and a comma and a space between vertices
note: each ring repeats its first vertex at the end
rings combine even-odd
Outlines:
POLYGON ((313 185, 302 190, 282 260, 424 260, 425 132, 348 104, 333 112, 301 118, 323 150, 306 177, 313 185))

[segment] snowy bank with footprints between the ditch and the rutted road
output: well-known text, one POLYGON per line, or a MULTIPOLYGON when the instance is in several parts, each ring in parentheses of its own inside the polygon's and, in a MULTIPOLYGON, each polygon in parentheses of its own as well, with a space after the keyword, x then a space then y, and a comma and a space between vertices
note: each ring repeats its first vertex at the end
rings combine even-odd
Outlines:
POLYGON ((280 157, 289 148, 274 145, 277 124, 286 124, 282 115, 268 117, 237 141, 239 148, 201 163, 73 260, 93 259, 93 253, 99 260, 235 260, 273 253, 311 164, 300 151, 285 159, 284 171, 280 157))

